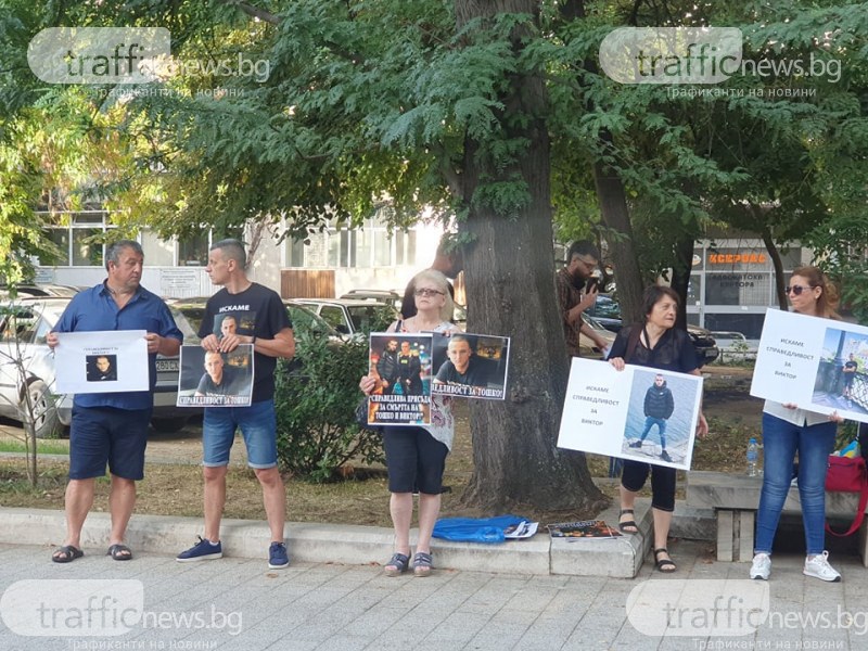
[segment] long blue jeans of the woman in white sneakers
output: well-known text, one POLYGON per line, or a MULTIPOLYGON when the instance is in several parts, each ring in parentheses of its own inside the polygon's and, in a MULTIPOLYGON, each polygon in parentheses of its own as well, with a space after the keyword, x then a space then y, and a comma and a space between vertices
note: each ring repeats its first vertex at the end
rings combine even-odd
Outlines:
POLYGON ((808 554, 822 553, 826 547, 826 470, 837 431, 838 425, 831 421, 805 426, 763 414, 763 492, 756 513, 755 553, 771 553, 780 512, 790 490, 796 450, 805 546, 808 554))

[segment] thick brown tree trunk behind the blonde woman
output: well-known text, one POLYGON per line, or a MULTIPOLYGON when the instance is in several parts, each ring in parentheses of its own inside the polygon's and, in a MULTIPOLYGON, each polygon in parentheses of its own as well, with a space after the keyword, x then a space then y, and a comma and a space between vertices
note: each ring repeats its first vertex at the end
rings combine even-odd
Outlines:
MULTIPOLYGON (((536 14, 537 2, 457 0, 459 23, 498 12, 536 14)), ((520 29, 513 51, 521 49, 520 29)), ((596 513, 605 498, 593 485, 584 455, 556 446, 567 376, 567 355, 556 306, 549 199, 546 91, 539 71, 516 74, 500 98, 505 137, 527 142, 519 159, 499 168, 485 148, 468 140, 462 175, 474 237, 464 255, 468 330, 511 337, 505 403, 471 400, 474 472, 465 503, 487 511, 527 506, 596 513), (502 214, 476 191, 523 180, 529 201, 502 214), (475 201, 474 201, 475 200, 475 201), (529 315, 529 318, 528 318, 529 315)))

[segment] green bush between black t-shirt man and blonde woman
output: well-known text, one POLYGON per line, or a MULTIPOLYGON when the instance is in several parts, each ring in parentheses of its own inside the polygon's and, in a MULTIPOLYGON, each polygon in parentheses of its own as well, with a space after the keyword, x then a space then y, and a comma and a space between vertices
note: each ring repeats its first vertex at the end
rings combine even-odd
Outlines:
POLYGON ((308 331, 295 345, 301 368, 299 362, 281 360, 276 375, 281 467, 327 482, 352 460, 382 462, 380 434, 355 422, 359 378, 368 371, 367 337, 339 344, 308 331))

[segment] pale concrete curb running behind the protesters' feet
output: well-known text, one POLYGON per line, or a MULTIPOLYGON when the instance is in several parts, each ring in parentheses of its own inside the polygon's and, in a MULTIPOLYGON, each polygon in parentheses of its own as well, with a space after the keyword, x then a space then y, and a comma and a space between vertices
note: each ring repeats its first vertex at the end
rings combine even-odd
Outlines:
MULTIPOLYGON (((598 515, 611 525, 617 523, 617 508, 598 515)), ((639 534, 613 539, 579 538, 552 540, 545 531, 529 540, 500 545, 451 542, 434 539, 432 552, 437 567, 532 575, 635 577, 651 545, 650 500, 636 503, 639 534)), ((11 545, 60 546, 66 531, 63 511, 0 507, 0 542, 11 545)), ((108 547, 108 513, 92 512, 81 533, 87 554, 103 554, 108 547)), ((391 528, 291 522, 286 544, 294 561, 306 563, 381 564, 393 552, 391 528)), ((127 527, 127 544, 133 553, 175 557, 202 534, 200 518, 133 514, 127 527)), ((416 531, 411 533, 411 541, 416 531)), ((227 557, 264 559, 270 535, 263 521, 224 520, 224 552, 227 557)), ((49 553, 47 551, 47 558, 49 553)))

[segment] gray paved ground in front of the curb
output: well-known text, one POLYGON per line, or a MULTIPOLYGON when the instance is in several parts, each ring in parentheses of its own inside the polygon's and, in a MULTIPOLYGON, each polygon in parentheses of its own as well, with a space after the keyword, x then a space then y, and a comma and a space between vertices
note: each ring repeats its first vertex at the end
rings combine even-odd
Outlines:
MULTIPOLYGON (((868 582, 855 554, 831 558, 844 575, 838 584, 803 576, 801 554, 779 554, 766 584, 745 580, 745 563, 713 560, 709 542, 687 540, 671 545, 677 573, 663 575, 646 562, 636 578, 455 570, 390 578, 376 565, 295 562, 268 570, 264 559, 177 563, 148 551, 116 562, 102 548, 59 565, 50 551, 0 544, 0 650, 868 649, 868 582), (111 605, 103 612, 110 615, 132 603, 138 586, 141 620, 116 637, 54 635, 92 630, 82 625, 81 596, 64 596, 63 588, 87 593, 95 579, 104 582, 101 595, 107 590, 111 605), (31 583, 16 583, 22 580, 31 583), (707 593, 719 592, 723 622, 726 604, 730 620, 744 618, 753 588, 767 589, 765 623, 746 636, 709 635, 713 611, 702 610, 707 593), (671 604, 677 616, 649 634, 648 618, 636 618, 641 599, 627 612, 634 589, 652 595, 655 605, 671 604), (54 614, 38 628, 48 637, 10 630, 22 626, 11 622, 15 613, 33 615, 39 604, 43 614, 54 614)), ((497 550, 481 547, 481 553, 497 550)), ((117 631, 108 618, 108 630, 117 631)))

